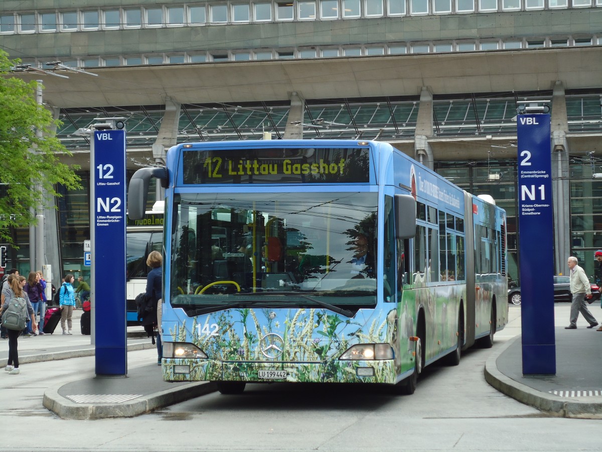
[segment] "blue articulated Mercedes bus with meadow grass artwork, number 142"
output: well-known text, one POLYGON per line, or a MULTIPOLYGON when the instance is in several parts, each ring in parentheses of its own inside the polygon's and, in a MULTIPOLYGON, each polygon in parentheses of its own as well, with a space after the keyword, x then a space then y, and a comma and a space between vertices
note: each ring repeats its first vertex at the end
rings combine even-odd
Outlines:
POLYGON ((412 394, 507 323, 506 216, 388 143, 185 143, 166 187, 163 377, 223 394, 273 381, 412 394))

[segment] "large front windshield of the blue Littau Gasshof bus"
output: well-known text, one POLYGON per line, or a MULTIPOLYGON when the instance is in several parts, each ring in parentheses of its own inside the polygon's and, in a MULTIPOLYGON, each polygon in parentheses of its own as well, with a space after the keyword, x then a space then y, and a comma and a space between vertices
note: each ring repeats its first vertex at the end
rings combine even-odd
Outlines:
POLYGON ((181 193, 174 202, 173 307, 376 305, 377 193, 181 193))

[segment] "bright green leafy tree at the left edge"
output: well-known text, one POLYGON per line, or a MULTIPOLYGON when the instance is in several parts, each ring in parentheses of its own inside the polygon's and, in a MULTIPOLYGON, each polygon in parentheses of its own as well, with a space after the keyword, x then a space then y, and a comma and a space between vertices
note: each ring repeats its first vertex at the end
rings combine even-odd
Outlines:
POLYGON ((54 136, 61 123, 36 102, 36 81, 11 77, 10 60, 0 50, 0 241, 12 243, 10 227, 35 224, 34 209, 55 206, 55 188, 80 188, 75 165, 58 155, 71 155, 54 136), (41 184, 42 192, 35 190, 41 184), (33 208, 33 209, 32 209, 33 208))

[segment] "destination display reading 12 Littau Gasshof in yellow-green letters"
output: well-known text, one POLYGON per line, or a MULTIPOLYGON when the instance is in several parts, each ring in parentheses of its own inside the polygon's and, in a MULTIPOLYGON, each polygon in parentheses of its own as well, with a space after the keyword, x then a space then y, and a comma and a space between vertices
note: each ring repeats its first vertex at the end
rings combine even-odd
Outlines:
POLYGON ((184 184, 365 183, 368 149, 237 149, 182 152, 184 184))

